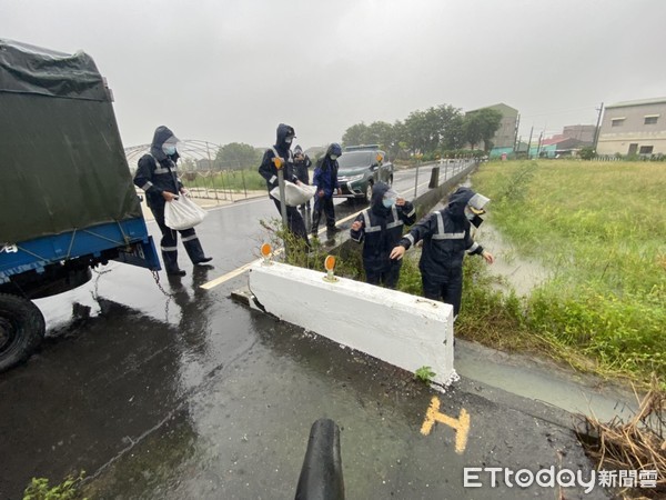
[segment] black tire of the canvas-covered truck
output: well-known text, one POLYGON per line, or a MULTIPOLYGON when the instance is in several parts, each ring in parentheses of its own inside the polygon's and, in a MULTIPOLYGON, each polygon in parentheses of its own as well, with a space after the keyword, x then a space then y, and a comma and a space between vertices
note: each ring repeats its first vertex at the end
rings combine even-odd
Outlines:
POLYGON ((23 297, 0 293, 0 372, 28 359, 41 343, 44 317, 23 297))

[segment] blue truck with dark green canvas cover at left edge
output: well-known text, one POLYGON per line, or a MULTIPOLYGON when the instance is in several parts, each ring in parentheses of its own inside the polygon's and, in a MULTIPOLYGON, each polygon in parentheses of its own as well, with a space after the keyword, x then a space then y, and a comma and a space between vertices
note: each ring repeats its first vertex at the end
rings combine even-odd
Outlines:
POLYGON ((0 371, 44 337, 33 299, 111 260, 160 269, 112 101, 84 52, 0 39, 0 371))

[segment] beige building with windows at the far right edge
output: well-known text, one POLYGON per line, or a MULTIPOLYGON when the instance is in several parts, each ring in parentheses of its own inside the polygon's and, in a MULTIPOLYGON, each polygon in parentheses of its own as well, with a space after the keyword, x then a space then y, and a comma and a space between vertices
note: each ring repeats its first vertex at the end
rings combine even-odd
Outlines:
POLYGON ((666 154, 666 98, 607 106, 597 154, 666 154))

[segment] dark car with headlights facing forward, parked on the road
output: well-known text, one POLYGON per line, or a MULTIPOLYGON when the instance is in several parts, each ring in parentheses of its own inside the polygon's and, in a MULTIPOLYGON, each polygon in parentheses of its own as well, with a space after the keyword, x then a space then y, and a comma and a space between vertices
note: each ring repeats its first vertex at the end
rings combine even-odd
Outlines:
POLYGON ((346 147, 337 164, 337 183, 342 194, 335 194, 336 198, 370 201, 375 182, 393 184, 393 163, 377 146, 346 147))

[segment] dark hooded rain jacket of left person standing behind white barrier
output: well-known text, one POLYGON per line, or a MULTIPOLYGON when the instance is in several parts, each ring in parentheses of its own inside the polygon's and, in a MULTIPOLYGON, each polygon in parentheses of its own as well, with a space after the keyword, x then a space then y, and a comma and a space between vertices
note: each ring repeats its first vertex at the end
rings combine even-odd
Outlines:
POLYGON ((390 267, 393 262, 389 256, 401 240, 404 224, 411 226, 416 220, 416 210, 408 201, 402 207, 384 207, 382 199, 389 189, 383 182, 373 187, 370 208, 356 217, 361 229, 351 231, 353 240, 364 241, 363 267, 366 270, 382 271, 390 267))

